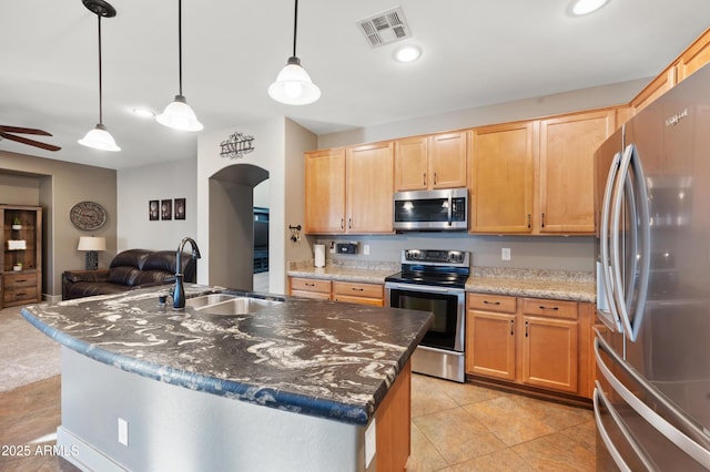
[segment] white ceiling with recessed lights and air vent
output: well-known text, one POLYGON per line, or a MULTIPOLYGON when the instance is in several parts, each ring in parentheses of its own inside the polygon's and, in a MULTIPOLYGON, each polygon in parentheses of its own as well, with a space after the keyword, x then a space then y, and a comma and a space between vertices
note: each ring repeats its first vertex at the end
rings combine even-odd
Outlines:
MULTIPOLYGON (((39 127, 62 147, 0 151, 110 168, 195 155, 196 135, 156 112, 178 93, 178 1, 110 0, 102 20, 103 122, 120 153, 77 143, 99 119, 97 17, 81 0, 4 1, 0 124, 39 127)), ((291 55, 293 0, 183 0, 183 93, 205 131, 290 116, 316 134, 657 75, 710 25, 708 0, 610 0, 572 18, 571 0, 301 0, 297 55, 318 102, 288 106, 267 86, 291 55), (424 50, 392 60, 356 21, 400 6, 424 50)), ((29 136, 32 137, 32 136, 29 136)))

